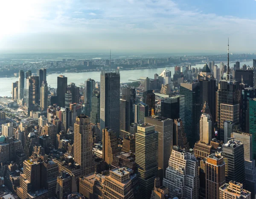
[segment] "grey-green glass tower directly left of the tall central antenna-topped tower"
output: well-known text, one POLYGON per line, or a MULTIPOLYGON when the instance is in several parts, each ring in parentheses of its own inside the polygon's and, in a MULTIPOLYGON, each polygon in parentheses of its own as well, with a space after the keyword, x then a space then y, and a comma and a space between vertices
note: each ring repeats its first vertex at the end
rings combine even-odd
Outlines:
POLYGON ((90 122, 93 124, 99 123, 100 117, 100 94, 94 93, 92 96, 92 109, 90 112, 90 122))

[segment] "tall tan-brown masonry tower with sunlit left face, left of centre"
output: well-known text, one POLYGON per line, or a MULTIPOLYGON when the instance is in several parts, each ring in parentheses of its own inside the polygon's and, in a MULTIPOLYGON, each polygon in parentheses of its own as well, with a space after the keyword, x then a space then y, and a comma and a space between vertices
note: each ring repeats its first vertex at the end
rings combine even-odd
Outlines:
POLYGON ((74 160, 81 166, 81 175, 94 171, 93 168, 93 133, 90 119, 85 115, 76 117, 74 124, 74 160))

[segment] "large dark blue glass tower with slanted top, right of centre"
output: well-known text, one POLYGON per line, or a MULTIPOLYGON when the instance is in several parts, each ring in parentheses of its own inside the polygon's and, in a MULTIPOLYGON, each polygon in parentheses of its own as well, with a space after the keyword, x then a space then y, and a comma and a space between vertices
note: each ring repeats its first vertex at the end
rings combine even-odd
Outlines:
POLYGON ((201 114, 199 82, 180 84, 180 119, 183 122, 189 146, 194 147, 199 140, 199 120, 201 114))

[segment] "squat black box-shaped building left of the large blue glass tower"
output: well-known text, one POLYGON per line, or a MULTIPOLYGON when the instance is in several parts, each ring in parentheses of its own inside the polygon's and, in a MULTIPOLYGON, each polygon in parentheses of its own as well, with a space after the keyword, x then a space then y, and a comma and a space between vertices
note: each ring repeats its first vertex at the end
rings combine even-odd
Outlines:
POLYGON ((170 119, 179 118, 180 114, 180 97, 171 97, 161 100, 161 116, 170 119))

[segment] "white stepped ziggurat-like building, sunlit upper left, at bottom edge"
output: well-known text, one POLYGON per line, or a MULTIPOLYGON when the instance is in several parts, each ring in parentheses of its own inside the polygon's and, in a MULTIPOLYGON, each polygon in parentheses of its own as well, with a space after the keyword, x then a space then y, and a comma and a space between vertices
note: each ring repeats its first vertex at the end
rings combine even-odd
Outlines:
POLYGON ((163 185, 169 189, 171 198, 198 199, 198 161, 192 149, 186 151, 174 146, 163 185))

